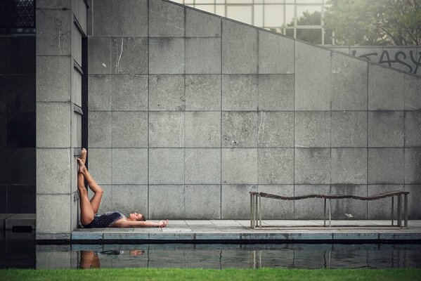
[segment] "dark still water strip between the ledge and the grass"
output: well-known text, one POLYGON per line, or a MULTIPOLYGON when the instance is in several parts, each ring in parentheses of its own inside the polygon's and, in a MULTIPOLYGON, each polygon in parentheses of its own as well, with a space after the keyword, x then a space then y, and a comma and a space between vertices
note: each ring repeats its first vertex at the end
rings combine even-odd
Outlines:
POLYGON ((421 244, 72 244, 0 241, 0 268, 421 268, 421 244))

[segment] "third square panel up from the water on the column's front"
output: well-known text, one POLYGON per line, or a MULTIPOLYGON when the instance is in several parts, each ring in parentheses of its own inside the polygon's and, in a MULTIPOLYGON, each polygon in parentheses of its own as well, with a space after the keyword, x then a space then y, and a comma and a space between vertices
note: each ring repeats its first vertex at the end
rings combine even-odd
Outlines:
POLYGON ((37 103, 37 148, 70 148, 71 103, 37 103))

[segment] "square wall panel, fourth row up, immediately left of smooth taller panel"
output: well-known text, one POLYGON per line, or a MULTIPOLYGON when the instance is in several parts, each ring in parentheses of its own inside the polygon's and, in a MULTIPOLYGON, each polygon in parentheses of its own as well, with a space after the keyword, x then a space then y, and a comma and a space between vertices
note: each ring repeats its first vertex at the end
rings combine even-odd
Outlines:
POLYGON ((259 75, 259 110, 294 110, 294 75, 259 75))

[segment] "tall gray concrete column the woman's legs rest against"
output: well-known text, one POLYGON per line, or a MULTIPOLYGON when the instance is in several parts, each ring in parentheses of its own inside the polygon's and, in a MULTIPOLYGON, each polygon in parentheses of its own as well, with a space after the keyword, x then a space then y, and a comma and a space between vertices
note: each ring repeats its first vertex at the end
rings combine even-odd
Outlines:
POLYGON ((37 1, 37 240, 77 228, 83 0, 37 1))

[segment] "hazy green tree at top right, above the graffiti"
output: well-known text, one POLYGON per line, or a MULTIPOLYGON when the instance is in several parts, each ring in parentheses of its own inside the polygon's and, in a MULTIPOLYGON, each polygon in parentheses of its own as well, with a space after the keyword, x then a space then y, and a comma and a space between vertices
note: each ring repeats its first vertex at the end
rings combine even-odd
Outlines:
POLYGON ((329 0, 325 30, 340 45, 420 45, 420 0, 329 0))

